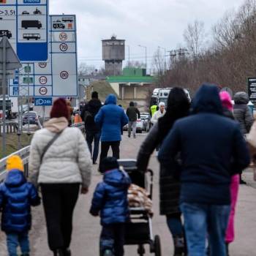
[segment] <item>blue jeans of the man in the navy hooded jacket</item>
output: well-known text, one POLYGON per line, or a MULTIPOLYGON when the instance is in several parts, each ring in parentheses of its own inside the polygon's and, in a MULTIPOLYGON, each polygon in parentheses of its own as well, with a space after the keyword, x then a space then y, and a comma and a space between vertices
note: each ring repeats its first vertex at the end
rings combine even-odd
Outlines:
POLYGON ((226 256, 225 233, 230 206, 181 203, 189 256, 206 255, 206 239, 211 256, 226 256))

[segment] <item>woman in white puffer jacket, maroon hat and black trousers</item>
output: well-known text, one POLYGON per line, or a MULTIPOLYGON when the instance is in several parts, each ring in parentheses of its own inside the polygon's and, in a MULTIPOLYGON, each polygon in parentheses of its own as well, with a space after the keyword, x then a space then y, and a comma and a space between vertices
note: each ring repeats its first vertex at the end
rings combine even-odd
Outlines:
POLYGON ((92 161, 80 129, 68 127, 69 110, 56 99, 50 120, 34 134, 29 155, 30 180, 41 187, 48 229, 48 244, 56 256, 69 256, 72 215, 79 189, 86 194, 92 161))

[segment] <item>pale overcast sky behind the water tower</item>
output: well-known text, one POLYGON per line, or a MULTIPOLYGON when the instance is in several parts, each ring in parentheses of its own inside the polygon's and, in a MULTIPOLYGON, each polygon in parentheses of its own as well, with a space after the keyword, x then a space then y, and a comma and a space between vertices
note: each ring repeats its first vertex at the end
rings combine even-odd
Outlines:
MULTIPOLYGON (((116 34, 126 39, 130 59, 148 66, 158 46, 175 49, 183 42, 183 32, 195 19, 206 31, 227 10, 237 10, 244 0, 50 0, 50 14, 75 14, 78 23, 78 61, 103 66, 102 39, 116 34)), ((126 50, 128 59, 128 50, 126 50)))

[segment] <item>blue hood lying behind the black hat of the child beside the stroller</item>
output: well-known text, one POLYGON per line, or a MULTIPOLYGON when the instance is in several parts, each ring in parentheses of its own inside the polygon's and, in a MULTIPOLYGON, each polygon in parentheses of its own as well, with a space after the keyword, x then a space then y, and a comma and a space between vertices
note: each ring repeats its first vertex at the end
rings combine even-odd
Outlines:
POLYGON ((104 174, 104 181, 114 187, 129 187, 131 179, 129 175, 122 170, 109 170, 104 174))

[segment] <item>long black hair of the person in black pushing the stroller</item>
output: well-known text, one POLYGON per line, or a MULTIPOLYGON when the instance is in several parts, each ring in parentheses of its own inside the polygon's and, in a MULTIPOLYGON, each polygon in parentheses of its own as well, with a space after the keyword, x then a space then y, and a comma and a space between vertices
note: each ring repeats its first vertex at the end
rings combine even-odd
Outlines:
POLYGON ((165 139, 166 135, 173 127, 173 124, 178 118, 187 116, 189 113, 189 99, 184 92, 184 89, 175 87, 170 91, 167 99, 167 109, 165 116, 159 118, 159 138, 160 141, 165 139))

